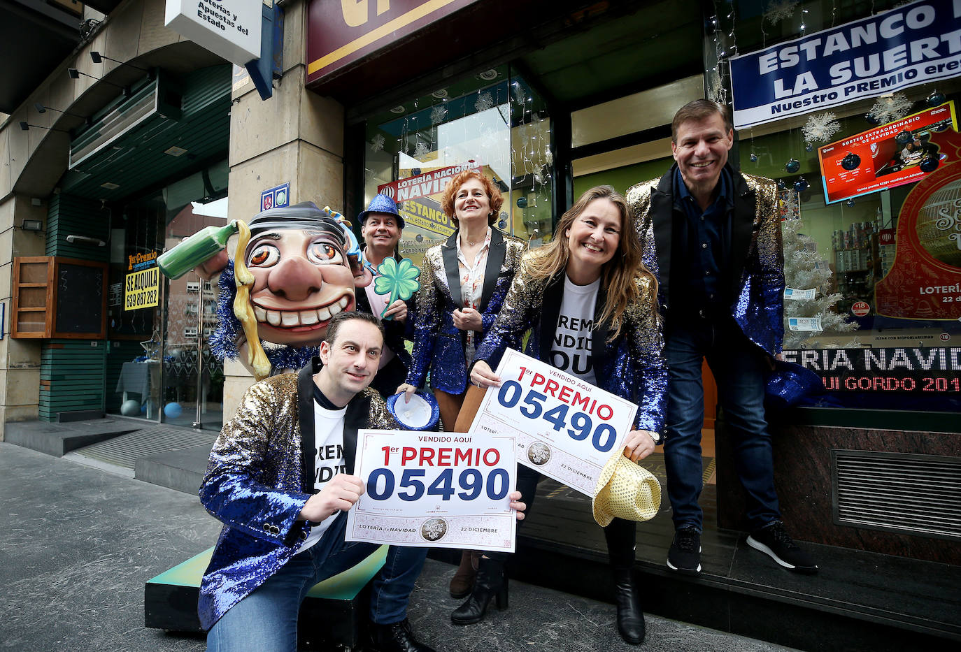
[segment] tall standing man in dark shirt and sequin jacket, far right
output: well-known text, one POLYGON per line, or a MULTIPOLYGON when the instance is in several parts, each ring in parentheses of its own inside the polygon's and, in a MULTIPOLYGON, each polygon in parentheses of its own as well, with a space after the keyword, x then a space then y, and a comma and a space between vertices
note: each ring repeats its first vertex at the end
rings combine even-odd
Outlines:
POLYGON ((669 369, 664 460, 675 538, 667 566, 701 571, 702 360, 717 379, 736 471, 748 495, 748 544, 804 573, 814 561, 780 520, 764 387, 784 336, 784 254, 775 181, 727 164, 734 132, 723 105, 695 100, 671 126, 676 164, 628 189, 659 275, 669 369))

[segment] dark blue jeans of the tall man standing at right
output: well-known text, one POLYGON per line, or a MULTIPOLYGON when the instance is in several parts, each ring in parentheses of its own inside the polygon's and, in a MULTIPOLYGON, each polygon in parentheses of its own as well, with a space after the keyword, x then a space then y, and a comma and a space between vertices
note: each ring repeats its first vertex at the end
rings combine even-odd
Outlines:
POLYGON ((675 529, 702 531, 701 429, 704 419, 702 359, 718 385, 730 433, 734 465, 748 495, 748 520, 755 529, 780 519, 775 492, 771 435, 764 418, 767 354, 729 317, 677 319, 664 330, 670 384, 664 462, 675 529))

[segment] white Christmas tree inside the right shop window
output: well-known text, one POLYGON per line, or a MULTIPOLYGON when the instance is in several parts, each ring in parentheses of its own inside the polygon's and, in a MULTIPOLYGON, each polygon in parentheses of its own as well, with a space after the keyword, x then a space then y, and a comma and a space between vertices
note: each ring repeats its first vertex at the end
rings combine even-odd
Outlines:
MULTIPOLYGON (((821 333, 835 334, 850 332, 857 324, 849 322, 847 315, 835 312, 835 305, 843 299, 840 293, 827 294, 832 272, 827 260, 818 254, 818 243, 809 235, 801 233, 801 218, 781 222, 784 239, 784 281, 787 287, 795 290, 795 297, 803 292, 814 290, 813 299, 784 299, 784 349, 803 349, 802 343, 809 337, 821 333), (791 317, 819 318, 821 330, 791 330, 788 319, 791 317)), ((860 344, 856 337, 847 343, 821 348, 856 348, 860 344)))

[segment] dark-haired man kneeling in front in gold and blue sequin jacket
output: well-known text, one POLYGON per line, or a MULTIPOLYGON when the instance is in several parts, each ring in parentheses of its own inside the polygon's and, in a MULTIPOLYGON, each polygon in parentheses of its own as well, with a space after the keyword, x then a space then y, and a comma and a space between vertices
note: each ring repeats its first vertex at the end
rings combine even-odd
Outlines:
MULTIPOLYGON (((295 652, 291 622, 310 587, 379 547, 345 542, 344 531, 363 492, 354 475, 357 430, 400 427, 368 387, 382 333, 373 315, 334 316, 319 358, 299 374, 256 383, 224 425, 200 489, 224 523, 198 604, 208 650, 295 652)), ((426 552, 392 546, 375 578, 371 619, 381 652, 432 652, 407 623, 426 552)))

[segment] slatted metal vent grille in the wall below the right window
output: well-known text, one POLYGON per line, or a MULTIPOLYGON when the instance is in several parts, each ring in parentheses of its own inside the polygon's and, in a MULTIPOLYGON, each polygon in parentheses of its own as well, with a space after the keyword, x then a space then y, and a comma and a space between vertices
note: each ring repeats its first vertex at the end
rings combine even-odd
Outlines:
POLYGON ((961 458, 833 450, 835 522, 961 539, 961 458))

